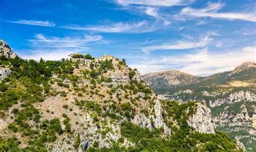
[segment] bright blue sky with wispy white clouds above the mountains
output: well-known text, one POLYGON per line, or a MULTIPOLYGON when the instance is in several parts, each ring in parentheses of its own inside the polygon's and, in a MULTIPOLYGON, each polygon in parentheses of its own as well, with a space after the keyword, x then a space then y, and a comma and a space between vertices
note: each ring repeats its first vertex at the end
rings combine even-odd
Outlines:
POLYGON ((0 0, 0 39, 23 59, 126 59, 140 73, 208 76, 256 61, 252 0, 0 0))

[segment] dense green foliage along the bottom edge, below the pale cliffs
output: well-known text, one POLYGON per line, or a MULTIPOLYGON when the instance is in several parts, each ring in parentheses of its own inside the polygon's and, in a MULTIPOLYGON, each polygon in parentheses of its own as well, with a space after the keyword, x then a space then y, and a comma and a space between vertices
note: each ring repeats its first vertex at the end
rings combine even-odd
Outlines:
POLYGON ((142 128, 131 122, 121 124, 121 134, 135 143, 134 147, 125 149, 114 143, 109 149, 89 148, 88 151, 233 151, 235 142, 224 133, 213 134, 190 133, 182 136, 182 131, 172 134, 171 138, 161 139, 163 129, 142 128))

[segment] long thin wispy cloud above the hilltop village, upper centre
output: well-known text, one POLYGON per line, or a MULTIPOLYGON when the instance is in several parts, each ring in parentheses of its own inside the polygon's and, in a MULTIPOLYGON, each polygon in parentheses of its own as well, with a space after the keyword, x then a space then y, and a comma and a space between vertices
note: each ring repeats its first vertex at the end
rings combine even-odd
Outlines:
POLYGON ((95 31, 102 33, 145 33, 156 30, 156 27, 149 26, 146 20, 138 23, 110 23, 96 26, 67 25, 65 28, 72 30, 95 31))

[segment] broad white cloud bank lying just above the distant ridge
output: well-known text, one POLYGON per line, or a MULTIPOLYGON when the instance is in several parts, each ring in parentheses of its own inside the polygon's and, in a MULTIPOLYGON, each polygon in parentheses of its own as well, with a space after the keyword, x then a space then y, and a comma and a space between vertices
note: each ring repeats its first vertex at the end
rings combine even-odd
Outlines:
POLYGON ((256 62, 255 52, 256 46, 248 46, 232 51, 223 50, 221 52, 210 52, 207 49, 203 49, 197 53, 160 56, 150 61, 141 61, 133 67, 138 66, 138 70, 143 74, 160 70, 170 70, 170 67, 173 67, 172 69, 192 75, 208 76, 224 71, 231 71, 243 62, 256 62))

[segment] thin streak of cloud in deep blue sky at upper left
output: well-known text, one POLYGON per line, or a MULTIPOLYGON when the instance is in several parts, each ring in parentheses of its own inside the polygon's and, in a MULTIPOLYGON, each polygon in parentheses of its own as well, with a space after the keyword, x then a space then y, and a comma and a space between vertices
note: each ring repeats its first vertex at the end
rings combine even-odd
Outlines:
POLYGON ((56 24, 51 21, 42 21, 42 20, 18 20, 18 21, 9 21, 10 23, 16 24, 26 24, 26 25, 37 25, 37 26, 55 26, 56 24))

